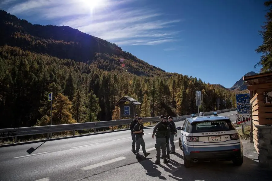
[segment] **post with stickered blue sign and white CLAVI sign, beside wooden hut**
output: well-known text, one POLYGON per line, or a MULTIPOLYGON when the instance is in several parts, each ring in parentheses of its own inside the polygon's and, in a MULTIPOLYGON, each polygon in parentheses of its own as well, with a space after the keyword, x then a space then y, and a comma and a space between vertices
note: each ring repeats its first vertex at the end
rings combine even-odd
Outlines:
POLYGON ((250 96, 249 94, 236 94, 237 114, 236 124, 242 125, 244 134, 244 125, 251 124, 250 96))

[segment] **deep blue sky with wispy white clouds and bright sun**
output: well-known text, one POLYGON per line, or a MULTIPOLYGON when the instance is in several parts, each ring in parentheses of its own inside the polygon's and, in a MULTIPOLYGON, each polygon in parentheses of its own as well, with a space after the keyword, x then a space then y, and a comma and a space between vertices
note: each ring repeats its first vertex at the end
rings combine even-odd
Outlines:
POLYGON ((229 88, 254 69, 264 0, 1 0, 33 24, 68 25, 164 69, 229 88))

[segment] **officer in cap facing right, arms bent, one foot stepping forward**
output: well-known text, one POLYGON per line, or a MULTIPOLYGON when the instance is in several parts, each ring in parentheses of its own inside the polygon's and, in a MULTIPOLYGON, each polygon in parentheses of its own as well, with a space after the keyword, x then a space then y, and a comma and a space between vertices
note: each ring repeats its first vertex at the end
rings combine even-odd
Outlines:
POLYGON ((138 118, 137 124, 135 124, 133 133, 135 134, 135 140, 136 140, 136 155, 139 156, 139 150, 140 145, 142 146, 144 156, 147 157, 150 153, 147 153, 145 151, 145 143, 144 143, 144 125, 143 125, 143 119, 141 117, 138 118))

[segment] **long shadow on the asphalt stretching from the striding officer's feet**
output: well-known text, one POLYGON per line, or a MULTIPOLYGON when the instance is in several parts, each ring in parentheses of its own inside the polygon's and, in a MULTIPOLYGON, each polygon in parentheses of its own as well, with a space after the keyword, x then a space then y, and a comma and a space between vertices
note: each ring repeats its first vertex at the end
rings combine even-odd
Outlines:
POLYGON ((157 169, 157 165, 154 165, 150 159, 151 158, 145 158, 142 155, 137 158, 139 164, 141 164, 146 170, 147 173, 145 174, 148 176, 158 177, 159 179, 166 180, 164 176, 161 176, 161 172, 157 169))

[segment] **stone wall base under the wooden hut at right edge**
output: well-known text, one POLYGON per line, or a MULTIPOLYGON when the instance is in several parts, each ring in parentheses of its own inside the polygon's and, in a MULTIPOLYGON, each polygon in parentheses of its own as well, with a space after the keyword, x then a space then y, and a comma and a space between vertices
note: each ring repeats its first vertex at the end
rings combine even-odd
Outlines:
POLYGON ((272 170, 272 126, 255 125, 255 127, 257 128, 257 148, 255 148, 259 154, 259 166, 272 170))

